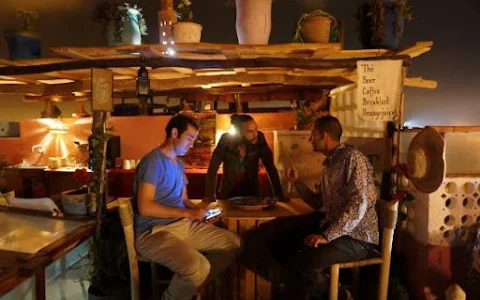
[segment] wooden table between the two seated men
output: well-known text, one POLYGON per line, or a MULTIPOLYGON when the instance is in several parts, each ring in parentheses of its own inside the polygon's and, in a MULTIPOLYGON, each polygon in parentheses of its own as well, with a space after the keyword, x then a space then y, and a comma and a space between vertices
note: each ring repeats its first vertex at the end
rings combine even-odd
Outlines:
MULTIPOLYGON (((193 200, 200 203, 200 200, 193 200)), ((241 210, 218 201, 222 207, 222 222, 228 230, 242 237, 248 230, 278 217, 308 214, 312 208, 301 199, 292 199, 288 203, 277 203, 262 210, 241 210)), ((267 300, 271 298, 271 284, 263 277, 245 268, 238 260, 230 267, 230 299, 232 300, 267 300)))

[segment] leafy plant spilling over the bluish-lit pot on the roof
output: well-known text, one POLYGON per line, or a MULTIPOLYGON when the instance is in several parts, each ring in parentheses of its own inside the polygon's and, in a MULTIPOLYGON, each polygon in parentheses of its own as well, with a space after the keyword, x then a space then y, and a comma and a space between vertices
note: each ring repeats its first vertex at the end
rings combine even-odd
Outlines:
POLYGON ((129 9, 138 11, 138 26, 141 35, 147 35, 147 23, 142 14, 142 9, 136 4, 129 3, 117 4, 104 2, 98 5, 93 15, 93 21, 98 23, 105 34, 107 27, 112 24, 115 28, 116 41, 122 40, 123 23, 130 20, 129 9))

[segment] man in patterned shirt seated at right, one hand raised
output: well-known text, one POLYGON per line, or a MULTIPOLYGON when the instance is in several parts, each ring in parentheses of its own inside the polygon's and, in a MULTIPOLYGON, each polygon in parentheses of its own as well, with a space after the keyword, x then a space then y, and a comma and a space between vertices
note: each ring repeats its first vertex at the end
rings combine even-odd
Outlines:
POLYGON ((293 275, 293 282, 287 285, 297 295, 311 288, 326 291, 324 270, 336 263, 365 259, 378 244, 378 194, 372 167, 360 151, 340 143, 341 136, 337 118, 325 116, 316 120, 309 141, 313 150, 326 158, 315 191, 299 180, 293 167, 286 172, 302 199, 324 213, 307 216, 313 222, 297 226, 290 238, 303 240, 303 248, 281 259, 293 275))

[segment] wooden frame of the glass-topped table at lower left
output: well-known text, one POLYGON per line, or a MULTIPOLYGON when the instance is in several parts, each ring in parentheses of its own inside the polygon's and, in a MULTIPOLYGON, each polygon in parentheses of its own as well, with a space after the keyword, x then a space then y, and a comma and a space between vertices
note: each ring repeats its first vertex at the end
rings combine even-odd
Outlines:
MULTIPOLYGON (((45 221, 65 220, 68 218, 53 218, 50 213, 29 211, 23 209, 0 208, 0 213, 8 213, 14 216, 34 216, 45 221)), ((70 220, 72 221, 72 220, 70 220)), ((0 250, 0 259, 2 261, 11 261, 18 268, 17 272, 12 272, 9 278, 0 282, 0 297, 12 291, 28 278, 35 277, 35 299, 46 299, 45 291, 45 269, 55 260, 61 258, 70 250, 76 248, 80 243, 93 234, 95 223, 90 220, 80 222, 74 229, 65 232, 65 234, 45 245, 35 253, 25 253, 12 250, 0 250)))

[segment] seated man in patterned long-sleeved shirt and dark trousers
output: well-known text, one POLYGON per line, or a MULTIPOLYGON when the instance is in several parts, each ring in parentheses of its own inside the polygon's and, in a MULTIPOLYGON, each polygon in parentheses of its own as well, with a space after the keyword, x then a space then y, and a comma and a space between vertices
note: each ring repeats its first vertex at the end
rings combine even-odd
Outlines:
MULTIPOLYGON (((299 180, 297 170, 287 169, 287 178, 315 212, 263 223, 244 238, 246 266, 286 283, 287 299, 327 292, 324 271, 336 263, 365 259, 378 244, 372 167, 360 151, 340 143, 341 135, 335 117, 315 121, 310 143, 326 156, 315 191, 299 180), (278 278, 281 274, 287 278, 278 278)), ((339 296, 348 299, 343 286, 339 296)))

